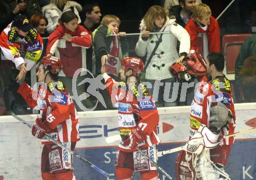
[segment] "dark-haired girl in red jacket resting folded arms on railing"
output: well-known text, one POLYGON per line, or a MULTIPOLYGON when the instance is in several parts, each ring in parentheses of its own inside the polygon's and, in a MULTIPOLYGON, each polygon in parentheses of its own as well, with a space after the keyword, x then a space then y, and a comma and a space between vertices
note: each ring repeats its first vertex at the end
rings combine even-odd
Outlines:
POLYGON ((49 35, 47 56, 59 56, 63 64, 59 76, 72 78, 77 69, 86 68, 86 48, 90 48, 92 39, 86 28, 77 24, 72 11, 62 14, 61 24, 49 35))

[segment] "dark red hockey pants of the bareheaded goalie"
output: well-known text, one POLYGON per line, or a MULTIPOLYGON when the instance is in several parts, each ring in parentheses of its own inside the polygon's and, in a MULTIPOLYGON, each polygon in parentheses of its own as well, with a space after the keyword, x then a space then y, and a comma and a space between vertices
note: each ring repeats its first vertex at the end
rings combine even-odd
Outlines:
POLYGON ((216 164, 220 163, 223 165, 227 164, 227 158, 229 157, 230 153, 230 146, 222 145, 215 149, 211 149, 211 160, 216 164))

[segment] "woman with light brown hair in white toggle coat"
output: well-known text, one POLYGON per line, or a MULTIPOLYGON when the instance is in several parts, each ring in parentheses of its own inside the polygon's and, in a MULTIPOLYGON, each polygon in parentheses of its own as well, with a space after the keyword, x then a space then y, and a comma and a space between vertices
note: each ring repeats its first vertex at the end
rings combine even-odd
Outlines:
POLYGON ((187 31, 169 19, 166 10, 161 6, 151 6, 141 20, 141 35, 136 44, 135 52, 138 56, 147 55, 145 66, 153 49, 160 39, 159 46, 152 55, 150 63, 145 70, 145 84, 153 95, 158 107, 176 106, 179 82, 169 73, 169 66, 176 61, 182 61, 190 51, 190 36, 187 31), (150 32, 168 32, 166 34, 149 34, 150 32), (179 53, 176 46, 180 41, 179 53))

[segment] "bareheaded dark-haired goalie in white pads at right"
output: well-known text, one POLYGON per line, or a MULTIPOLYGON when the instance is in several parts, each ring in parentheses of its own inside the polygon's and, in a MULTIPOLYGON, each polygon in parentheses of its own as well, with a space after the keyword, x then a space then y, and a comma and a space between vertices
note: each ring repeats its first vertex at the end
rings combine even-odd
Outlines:
MULTIPOLYGON (((221 53, 211 53, 206 60, 211 80, 202 78, 191 104, 190 140, 187 151, 176 160, 176 179, 230 179, 223 169, 234 137, 235 112, 231 84, 223 75, 225 60, 221 53)), ((207 76, 205 76, 207 77, 207 76)), ((210 77, 210 76, 208 76, 210 77)))

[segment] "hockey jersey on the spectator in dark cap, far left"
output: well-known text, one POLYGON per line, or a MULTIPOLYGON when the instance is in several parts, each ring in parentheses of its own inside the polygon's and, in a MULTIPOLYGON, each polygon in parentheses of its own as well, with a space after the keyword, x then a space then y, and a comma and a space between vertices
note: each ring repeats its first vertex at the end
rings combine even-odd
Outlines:
POLYGON ((18 68, 20 64, 27 63, 27 70, 30 70, 41 57, 43 48, 42 38, 35 29, 30 31, 31 36, 35 38, 34 41, 30 43, 26 41, 26 38, 19 36, 17 36, 16 41, 11 42, 9 40, 14 34, 16 35, 16 31, 12 28, 12 23, 10 23, 0 35, 2 53, 6 59, 12 60, 12 62, 15 63, 16 68, 18 68))

